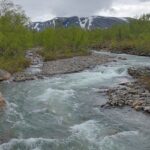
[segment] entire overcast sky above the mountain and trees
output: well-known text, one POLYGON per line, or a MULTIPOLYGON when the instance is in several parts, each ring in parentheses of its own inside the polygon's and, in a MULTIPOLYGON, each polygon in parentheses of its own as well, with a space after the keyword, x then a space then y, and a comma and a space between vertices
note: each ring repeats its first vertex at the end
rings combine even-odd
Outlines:
POLYGON ((33 21, 63 16, 135 17, 150 13, 150 0, 12 0, 33 21))

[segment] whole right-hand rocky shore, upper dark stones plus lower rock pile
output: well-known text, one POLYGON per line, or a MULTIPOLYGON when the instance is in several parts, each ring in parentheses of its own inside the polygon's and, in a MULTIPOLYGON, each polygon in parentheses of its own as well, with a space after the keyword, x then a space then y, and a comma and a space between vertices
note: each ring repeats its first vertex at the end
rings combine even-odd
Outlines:
POLYGON ((128 73, 136 81, 120 84, 118 87, 107 91, 108 102, 102 107, 124 107, 130 106, 136 111, 150 113, 150 91, 141 78, 150 75, 150 68, 129 68, 128 73))

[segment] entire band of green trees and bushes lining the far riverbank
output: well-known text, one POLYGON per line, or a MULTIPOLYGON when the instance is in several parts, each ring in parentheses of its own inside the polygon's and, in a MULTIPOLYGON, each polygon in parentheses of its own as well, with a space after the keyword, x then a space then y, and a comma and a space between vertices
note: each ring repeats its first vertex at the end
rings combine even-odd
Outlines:
POLYGON ((109 29, 84 30, 77 27, 46 29, 28 28, 28 17, 8 0, 0 3, 0 68, 11 73, 21 71, 30 62, 25 52, 40 47, 45 60, 88 55, 90 49, 109 49, 125 53, 150 55, 150 15, 130 20, 109 29))

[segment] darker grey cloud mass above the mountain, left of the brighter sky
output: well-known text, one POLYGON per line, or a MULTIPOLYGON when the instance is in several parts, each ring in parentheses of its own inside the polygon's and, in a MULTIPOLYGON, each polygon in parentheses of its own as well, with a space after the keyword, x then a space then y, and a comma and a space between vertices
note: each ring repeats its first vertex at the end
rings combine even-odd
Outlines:
POLYGON ((13 0, 20 4, 31 18, 44 15, 89 16, 102 8, 109 8, 112 0, 13 0))

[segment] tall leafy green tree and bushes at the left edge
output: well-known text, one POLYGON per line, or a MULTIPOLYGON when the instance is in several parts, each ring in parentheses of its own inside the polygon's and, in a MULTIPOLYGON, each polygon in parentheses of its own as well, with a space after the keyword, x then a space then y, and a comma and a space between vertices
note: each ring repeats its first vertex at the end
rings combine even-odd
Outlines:
POLYGON ((32 46, 32 33, 25 26, 28 18, 13 3, 0 3, 0 68, 16 72, 29 63, 25 50, 32 46))

